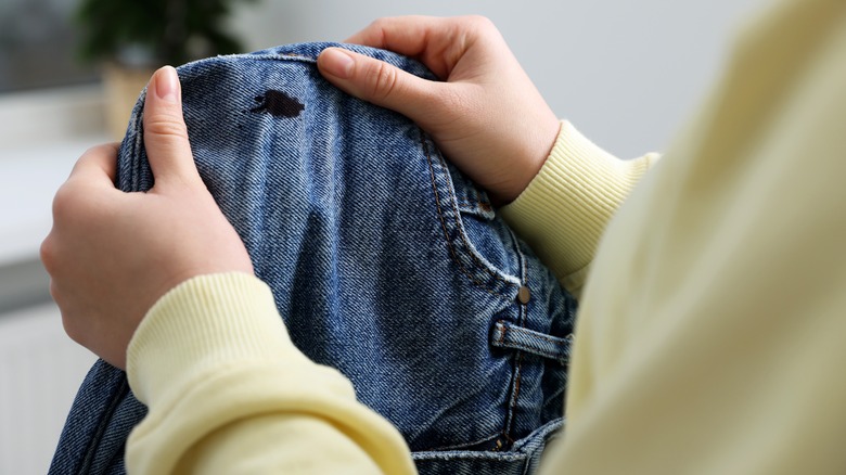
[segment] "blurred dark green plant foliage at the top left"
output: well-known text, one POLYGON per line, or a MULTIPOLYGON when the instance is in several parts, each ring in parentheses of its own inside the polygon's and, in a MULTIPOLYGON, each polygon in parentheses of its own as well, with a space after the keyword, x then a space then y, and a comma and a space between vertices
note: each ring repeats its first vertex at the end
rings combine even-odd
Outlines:
POLYGON ((225 30, 233 3, 252 0, 82 0, 80 55, 130 65, 180 65, 240 52, 225 30), (149 64, 138 64, 149 63, 149 64))

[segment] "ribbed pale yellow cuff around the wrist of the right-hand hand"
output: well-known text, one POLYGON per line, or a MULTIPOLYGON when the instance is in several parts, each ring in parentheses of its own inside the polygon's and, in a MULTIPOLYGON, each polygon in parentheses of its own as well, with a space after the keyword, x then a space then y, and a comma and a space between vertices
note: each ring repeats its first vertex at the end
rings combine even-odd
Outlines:
POLYGON ((578 293, 608 220, 657 158, 621 161, 564 120, 543 167, 502 215, 578 293))

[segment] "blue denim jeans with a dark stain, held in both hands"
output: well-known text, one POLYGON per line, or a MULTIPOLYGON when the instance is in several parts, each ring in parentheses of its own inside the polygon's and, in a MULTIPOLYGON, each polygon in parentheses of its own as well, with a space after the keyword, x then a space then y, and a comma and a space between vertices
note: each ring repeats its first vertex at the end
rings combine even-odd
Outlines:
MULTIPOLYGON (((530 473, 563 425, 575 301, 413 123, 322 79, 328 46, 179 68, 201 176, 295 345, 349 377, 421 473, 530 473)), ((153 184, 141 125, 139 102, 118 158, 125 191, 153 184)), ((98 362, 51 473, 123 473, 144 413, 98 362)))

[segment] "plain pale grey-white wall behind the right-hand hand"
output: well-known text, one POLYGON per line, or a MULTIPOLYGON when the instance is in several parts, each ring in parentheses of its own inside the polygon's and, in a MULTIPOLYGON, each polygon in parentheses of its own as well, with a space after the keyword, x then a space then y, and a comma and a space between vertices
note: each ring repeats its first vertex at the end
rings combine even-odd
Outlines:
POLYGON ((623 156, 661 151, 764 0, 264 0, 243 8, 251 49, 343 40, 380 16, 483 14, 553 111, 623 156))

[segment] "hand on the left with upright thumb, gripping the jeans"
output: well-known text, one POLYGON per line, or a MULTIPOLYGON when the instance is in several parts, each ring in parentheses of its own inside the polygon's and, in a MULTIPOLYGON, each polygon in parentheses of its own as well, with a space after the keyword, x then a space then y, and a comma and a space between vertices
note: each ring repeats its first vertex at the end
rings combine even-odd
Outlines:
POLYGON ((117 190, 117 145, 89 150, 56 193, 53 229, 41 245, 65 331, 118 368, 144 314, 167 291, 200 274, 253 273, 197 174, 171 67, 150 81, 144 142, 155 185, 146 193, 117 190))

